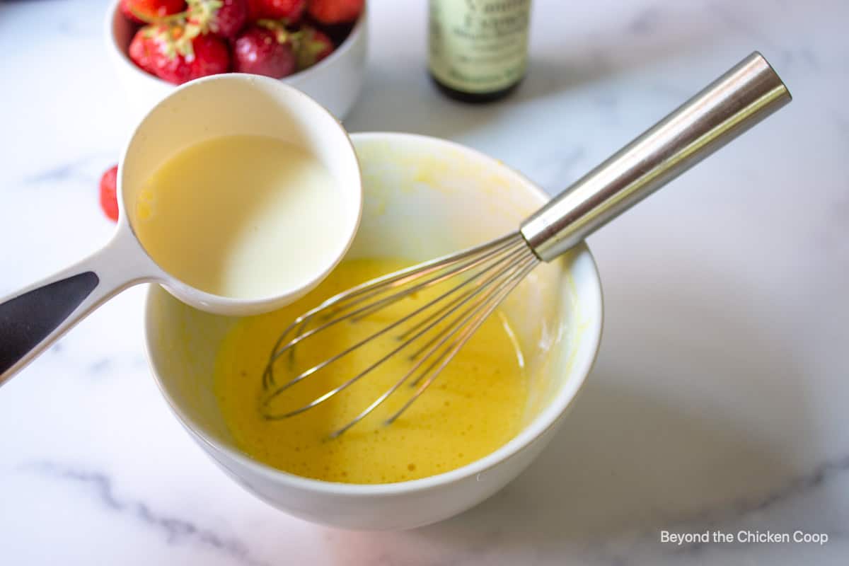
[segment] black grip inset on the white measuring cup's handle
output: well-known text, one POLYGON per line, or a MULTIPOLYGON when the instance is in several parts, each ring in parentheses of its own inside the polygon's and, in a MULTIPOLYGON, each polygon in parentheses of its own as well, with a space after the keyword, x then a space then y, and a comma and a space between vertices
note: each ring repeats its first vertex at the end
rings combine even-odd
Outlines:
POLYGON ((98 286, 95 272, 59 279, 0 305, 0 374, 59 327, 98 286))

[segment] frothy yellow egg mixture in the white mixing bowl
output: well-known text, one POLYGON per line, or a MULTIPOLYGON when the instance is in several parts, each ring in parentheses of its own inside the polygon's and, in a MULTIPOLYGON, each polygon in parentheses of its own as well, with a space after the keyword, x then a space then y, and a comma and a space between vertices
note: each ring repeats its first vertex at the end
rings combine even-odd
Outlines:
MULTIPOLYGON (((339 429, 413 367, 409 356, 393 356, 338 395, 295 417, 269 420, 260 412, 262 374, 284 328, 322 300, 406 266, 401 261, 343 261, 305 298, 284 309, 240 319, 216 358, 215 392, 224 422, 241 451, 291 474, 326 481, 383 484, 424 478, 485 457, 519 432, 527 401, 527 379, 509 322, 495 311, 447 364, 430 388, 391 425, 416 390, 406 384, 338 438, 339 429)), ((333 332, 305 340, 274 366, 276 384, 368 337, 429 300, 414 296, 333 332)), ((291 411, 353 377, 398 345, 381 337, 286 389, 269 405, 291 411)), ((426 340, 425 340, 426 341, 426 340)), ((424 345, 424 341, 419 344, 424 345)), ((414 350, 415 348, 413 348, 414 350)))

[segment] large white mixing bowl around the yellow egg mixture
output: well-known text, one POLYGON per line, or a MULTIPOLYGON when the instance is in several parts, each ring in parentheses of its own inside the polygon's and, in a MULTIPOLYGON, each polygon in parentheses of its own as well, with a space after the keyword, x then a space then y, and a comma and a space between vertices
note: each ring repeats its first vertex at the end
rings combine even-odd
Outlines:
MULTIPOLYGON (((525 177, 455 143, 394 133, 354 134, 352 139, 363 169, 365 201, 350 257, 424 261, 515 231, 548 199, 525 177)), ((586 246, 538 266, 503 308, 531 376, 524 428, 462 468, 385 485, 301 478, 256 462, 233 446, 212 376, 218 345, 235 319, 197 311, 151 286, 146 336, 151 367, 171 408, 239 484, 274 507, 316 523, 396 530, 461 513, 514 479, 551 440, 593 366, 602 298, 586 246)))

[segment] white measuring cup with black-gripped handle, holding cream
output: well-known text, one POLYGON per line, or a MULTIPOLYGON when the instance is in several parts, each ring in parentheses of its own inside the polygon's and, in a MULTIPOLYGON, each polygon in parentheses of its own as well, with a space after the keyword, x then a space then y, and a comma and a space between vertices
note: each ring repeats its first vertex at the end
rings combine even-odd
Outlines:
MULTIPOLYGON (((248 192, 250 187, 233 187, 248 192)), ((339 263, 357 233, 363 186, 357 155, 340 123, 312 98, 281 81, 228 74, 191 81, 172 91, 132 132, 118 166, 119 219, 110 242, 93 255, 0 300, 0 385, 76 322, 123 289, 160 283, 188 305, 223 315, 252 315, 287 305, 315 288, 339 263), (344 226, 326 265, 296 286, 250 299, 206 293, 157 265, 133 229, 143 183, 172 155, 212 137, 277 137, 318 157, 336 181, 344 226)), ((322 219, 316 219, 322 229, 322 219)), ((303 246, 310 238, 293 242, 303 246)), ((273 261, 285 261, 285 249, 273 261)))

